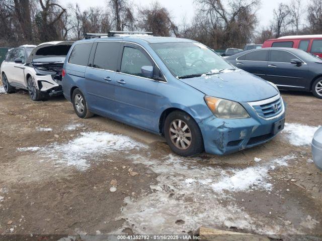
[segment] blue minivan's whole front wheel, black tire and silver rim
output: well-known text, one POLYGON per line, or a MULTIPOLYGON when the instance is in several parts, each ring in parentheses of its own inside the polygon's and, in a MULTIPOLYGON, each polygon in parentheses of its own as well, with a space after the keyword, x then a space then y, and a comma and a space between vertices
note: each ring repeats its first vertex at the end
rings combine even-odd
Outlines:
POLYGON ((176 110, 167 116, 164 132, 171 150, 181 156, 195 156, 204 150, 198 124, 183 111, 176 110))

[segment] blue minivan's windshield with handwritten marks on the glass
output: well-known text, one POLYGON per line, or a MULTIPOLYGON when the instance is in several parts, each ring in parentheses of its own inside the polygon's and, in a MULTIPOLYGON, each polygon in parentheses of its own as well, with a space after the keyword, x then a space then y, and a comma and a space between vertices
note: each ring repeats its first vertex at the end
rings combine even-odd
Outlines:
POLYGON ((235 69, 201 43, 155 43, 151 47, 176 77, 197 77, 235 69))

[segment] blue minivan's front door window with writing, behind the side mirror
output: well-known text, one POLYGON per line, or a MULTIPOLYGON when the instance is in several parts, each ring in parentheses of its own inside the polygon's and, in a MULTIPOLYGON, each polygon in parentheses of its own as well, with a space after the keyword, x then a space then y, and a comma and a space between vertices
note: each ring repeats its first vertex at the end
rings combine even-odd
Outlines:
POLYGON ((140 50, 124 47, 121 63, 122 73, 144 77, 141 73, 141 67, 153 65, 154 64, 140 50))

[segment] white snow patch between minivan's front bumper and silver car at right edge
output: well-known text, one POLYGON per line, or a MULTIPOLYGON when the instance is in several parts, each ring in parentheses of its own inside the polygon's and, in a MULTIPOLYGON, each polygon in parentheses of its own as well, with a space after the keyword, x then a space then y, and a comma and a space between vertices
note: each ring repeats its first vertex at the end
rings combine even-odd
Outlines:
POLYGON ((285 123, 285 128, 282 131, 285 133, 289 142, 294 146, 310 145, 313 139, 314 133, 318 127, 312 127, 296 123, 285 123))

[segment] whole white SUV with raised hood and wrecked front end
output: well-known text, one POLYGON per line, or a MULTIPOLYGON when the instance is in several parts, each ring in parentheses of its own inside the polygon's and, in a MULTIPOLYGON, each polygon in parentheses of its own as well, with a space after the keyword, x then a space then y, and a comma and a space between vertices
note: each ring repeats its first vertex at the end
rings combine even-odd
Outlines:
POLYGON ((72 44, 71 41, 54 41, 11 49, 0 68, 6 92, 26 89, 35 101, 62 94, 62 66, 72 44))

